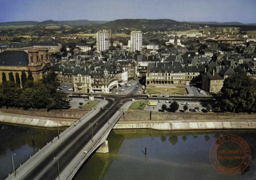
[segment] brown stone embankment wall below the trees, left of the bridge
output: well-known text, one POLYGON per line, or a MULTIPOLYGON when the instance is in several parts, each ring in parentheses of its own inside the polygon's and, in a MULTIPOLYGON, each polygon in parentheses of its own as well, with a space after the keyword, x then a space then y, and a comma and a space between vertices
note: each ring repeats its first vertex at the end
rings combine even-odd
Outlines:
POLYGON ((11 113, 11 114, 22 114, 22 115, 32 115, 41 117, 54 117, 54 118, 68 118, 68 119, 79 119, 91 109, 71 109, 71 110, 23 110, 19 108, 1 108, 0 112, 11 113))

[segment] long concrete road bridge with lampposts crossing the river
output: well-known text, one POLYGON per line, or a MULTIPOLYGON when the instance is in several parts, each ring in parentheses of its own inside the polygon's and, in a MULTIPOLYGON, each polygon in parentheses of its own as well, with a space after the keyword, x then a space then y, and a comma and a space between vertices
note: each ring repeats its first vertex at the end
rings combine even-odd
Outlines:
POLYGON ((116 97, 101 101, 101 105, 97 105, 98 107, 60 133, 59 137, 55 137, 35 153, 6 180, 72 179, 90 154, 105 142, 113 126, 123 115, 123 110, 119 107, 124 98, 127 97, 119 101, 116 97))

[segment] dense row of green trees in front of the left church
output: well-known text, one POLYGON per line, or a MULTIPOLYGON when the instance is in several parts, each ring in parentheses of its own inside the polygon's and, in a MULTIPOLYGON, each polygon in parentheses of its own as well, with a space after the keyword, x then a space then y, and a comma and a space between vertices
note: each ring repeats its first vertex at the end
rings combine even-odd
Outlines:
POLYGON ((21 74, 22 88, 9 76, 9 81, 0 84, 0 106, 17 107, 28 110, 34 109, 61 109, 67 107, 69 102, 63 92, 57 91, 60 83, 57 75, 52 72, 39 81, 33 81, 30 75, 21 74))

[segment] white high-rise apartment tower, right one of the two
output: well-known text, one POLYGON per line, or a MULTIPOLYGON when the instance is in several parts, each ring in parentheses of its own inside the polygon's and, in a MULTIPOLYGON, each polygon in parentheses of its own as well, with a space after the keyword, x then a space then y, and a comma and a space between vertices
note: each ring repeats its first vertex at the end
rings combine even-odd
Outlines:
POLYGON ((130 51, 142 51, 142 33, 141 31, 132 31, 130 40, 130 51))

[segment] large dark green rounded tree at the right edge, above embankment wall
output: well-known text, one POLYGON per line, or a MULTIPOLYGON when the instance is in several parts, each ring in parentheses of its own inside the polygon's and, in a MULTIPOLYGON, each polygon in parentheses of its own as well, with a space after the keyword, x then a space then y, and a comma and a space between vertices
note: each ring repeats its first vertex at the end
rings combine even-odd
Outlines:
POLYGON ((230 112, 256 112, 256 80, 246 74, 225 78, 221 89, 221 110, 230 112))

